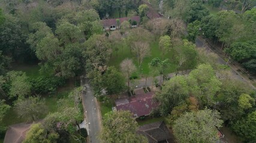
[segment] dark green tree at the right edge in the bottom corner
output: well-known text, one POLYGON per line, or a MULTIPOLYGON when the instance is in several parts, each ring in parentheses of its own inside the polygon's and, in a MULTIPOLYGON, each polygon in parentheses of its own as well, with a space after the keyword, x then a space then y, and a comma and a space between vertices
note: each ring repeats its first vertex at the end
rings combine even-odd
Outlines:
POLYGON ((247 142, 256 139, 256 111, 249 113, 248 116, 238 120, 232 126, 237 135, 244 138, 247 142))

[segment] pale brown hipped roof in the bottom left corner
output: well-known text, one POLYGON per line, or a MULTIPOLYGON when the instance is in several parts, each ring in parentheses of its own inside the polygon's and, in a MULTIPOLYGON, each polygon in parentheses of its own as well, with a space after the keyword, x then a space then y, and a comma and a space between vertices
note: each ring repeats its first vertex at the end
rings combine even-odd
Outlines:
POLYGON ((5 133, 4 143, 22 143, 31 125, 32 124, 19 123, 9 126, 9 129, 5 133))

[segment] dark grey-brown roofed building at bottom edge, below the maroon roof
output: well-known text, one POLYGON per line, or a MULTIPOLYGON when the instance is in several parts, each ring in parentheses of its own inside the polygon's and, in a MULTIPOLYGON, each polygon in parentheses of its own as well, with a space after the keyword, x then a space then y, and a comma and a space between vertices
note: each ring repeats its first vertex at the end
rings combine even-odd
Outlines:
POLYGON ((140 126, 138 133, 147 137, 149 143, 174 143, 175 139, 164 122, 155 122, 140 126))

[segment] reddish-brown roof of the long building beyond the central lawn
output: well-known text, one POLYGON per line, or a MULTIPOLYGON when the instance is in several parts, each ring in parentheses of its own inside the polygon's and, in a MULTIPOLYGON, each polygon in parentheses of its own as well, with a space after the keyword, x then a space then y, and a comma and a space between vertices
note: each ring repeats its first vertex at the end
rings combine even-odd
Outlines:
POLYGON ((122 17, 122 18, 112 18, 112 19, 106 19, 106 20, 102 20, 103 26, 117 26, 118 23, 116 22, 116 20, 119 19, 120 20, 120 24, 123 23, 124 21, 129 21, 129 19, 131 19, 132 21, 137 21, 137 23, 140 23, 140 16, 134 16, 131 18, 128 17, 122 17))

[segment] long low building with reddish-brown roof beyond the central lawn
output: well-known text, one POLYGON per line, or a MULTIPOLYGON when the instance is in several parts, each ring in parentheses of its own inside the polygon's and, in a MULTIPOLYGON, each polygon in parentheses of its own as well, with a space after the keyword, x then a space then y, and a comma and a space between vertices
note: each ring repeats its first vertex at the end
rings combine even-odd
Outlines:
POLYGON ((102 20, 102 24, 103 24, 104 30, 116 30, 116 29, 121 28, 121 24, 124 21, 131 21, 131 27, 137 27, 138 23, 140 23, 140 16, 134 16, 131 18, 122 17, 122 18, 105 19, 105 20, 102 20), (119 23, 118 23, 118 21, 119 21, 119 23))

